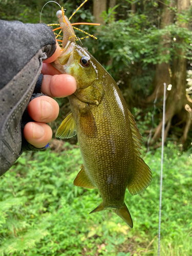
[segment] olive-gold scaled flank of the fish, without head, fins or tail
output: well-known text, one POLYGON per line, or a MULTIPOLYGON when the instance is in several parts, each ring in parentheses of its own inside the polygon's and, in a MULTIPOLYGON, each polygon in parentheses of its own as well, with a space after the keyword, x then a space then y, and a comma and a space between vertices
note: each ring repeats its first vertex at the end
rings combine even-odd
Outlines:
MULTIPOLYGON (((105 72, 100 75, 111 78, 105 72)), ((131 170, 134 168, 134 154, 133 138, 129 131, 131 129, 127 129, 130 125, 126 104, 122 105, 121 101, 116 100, 117 95, 119 98, 122 96, 119 89, 115 88, 113 79, 111 79, 110 86, 105 82, 103 86, 106 97, 101 99, 98 106, 90 105, 97 124, 98 133, 95 137, 90 137, 81 131, 79 116, 73 108, 73 97, 69 98, 76 120, 84 166, 86 170, 89 170, 89 177, 99 189, 104 207, 108 207, 122 205, 124 202, 125 188, 132 176, 131 170), (122 183, 124 183, 123 189, 122 183)))

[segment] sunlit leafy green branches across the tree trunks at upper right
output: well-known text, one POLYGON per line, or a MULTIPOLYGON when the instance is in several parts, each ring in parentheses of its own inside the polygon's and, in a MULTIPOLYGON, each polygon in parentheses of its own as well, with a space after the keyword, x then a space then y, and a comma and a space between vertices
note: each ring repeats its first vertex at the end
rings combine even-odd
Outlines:
POLYGON ((130 67, 133 61, 141 61, 143 65, 168 62, 176 54, 176 48, 182 49, 191 57, 191 40, 191 32, 177 24, 158 29, 150 26, 147 16, 130 15, 127 20, 118 20, 103 27, 99 36, 99 48, 113 58, 119 71, 130 67), (168 39, 162 43, 161 37, 165 35, 168 39), (183 42, 176 40, 177 36, 183 38, 183 42), (170 44, 168 48, 167 44, 170 44))

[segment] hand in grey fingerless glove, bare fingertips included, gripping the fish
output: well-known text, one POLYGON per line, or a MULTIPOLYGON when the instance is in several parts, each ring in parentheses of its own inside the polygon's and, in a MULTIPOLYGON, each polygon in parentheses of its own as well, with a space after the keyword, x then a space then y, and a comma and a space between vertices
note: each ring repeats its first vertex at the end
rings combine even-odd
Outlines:
MULTIPOLYGON (((25 109, 35 89, 40 71, 45 74, 42 93, 63 97, 73 93, 75 88, 70 86, 69 76, 55 76, 59 73, 54 71, 50 64, 42 69, 42 61, 52 56, 56 49, 55 36, 51 28, 45 24, 23 24, 6 20, 0 20, 0 28, 0 176, 2 176, 23 151, 33 150, 34 146, 23 140, 22 129, 27 123, 25 118, 28 118, 25 109), (62 87, 65 81, 64 89, 62 87)), ((58 48, 54 58, 59 55, 58 48)), ((49 62, 53 60, 52 57, 49 62)), ((39 97, 31 101, 29 113, 36 122, 26 125, 25 137, 36 147, 45 146, 52 134, 46 122, 56 118, 58 105, 48 96, 41 96, 41 99, 39 97), (43 103, 51 103, 52 113, 48 115, 45 112, 48 108, 45 108, 43 103), (41 114, 44 114, 44 118, 41 114), (42 128, 42 136, 36 136, 40 134, 39 127, 42 128)))

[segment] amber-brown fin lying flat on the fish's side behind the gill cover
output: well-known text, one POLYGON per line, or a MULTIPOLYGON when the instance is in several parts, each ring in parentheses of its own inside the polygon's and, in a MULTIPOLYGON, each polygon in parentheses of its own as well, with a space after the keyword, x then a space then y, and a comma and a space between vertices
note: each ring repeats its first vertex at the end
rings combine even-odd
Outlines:
POLYGON ((87 136, 95 137, 97 135, 97 125, 95 118, 88 104, 86 104, 84 108, 80 109, 79 111, 79 123, 82 132, 87 136))

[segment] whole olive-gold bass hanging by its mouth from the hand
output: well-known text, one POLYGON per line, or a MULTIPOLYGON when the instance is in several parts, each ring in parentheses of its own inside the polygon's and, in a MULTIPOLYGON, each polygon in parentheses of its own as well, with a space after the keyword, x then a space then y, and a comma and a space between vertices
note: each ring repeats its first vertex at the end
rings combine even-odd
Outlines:
POLYGON ((115 80, 86 48, 76 44, 67 17, 67 22, 63 15, 59 19, 60 26, 69 26, 69 40, 65 36, 65 48, 52 65, 62 74, 72 75, 77 89, 69 96, 71 113, 56 137, 77 134, 83 164, 74 185, 97 188, 102 199, 90 214, 113 210, 133 228, 124 202, 126 188, 136 195, 152 180, 151 169, 140 156, 142 136, 115 80))

